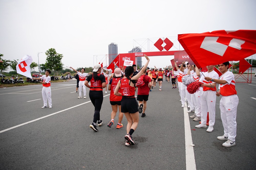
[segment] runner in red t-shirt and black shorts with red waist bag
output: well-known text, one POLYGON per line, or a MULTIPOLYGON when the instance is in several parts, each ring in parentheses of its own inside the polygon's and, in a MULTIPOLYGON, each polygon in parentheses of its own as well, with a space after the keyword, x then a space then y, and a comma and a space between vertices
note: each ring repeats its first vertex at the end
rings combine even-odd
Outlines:
MULTIPOLYGON (((141 68, 142 70, 142 68, 141 68)), ((151 78, 149 76, 146 76, 146 70, 141 75, 143 77, 143 82, 145 83, 142 86, 138 86, 138 96, 137 100, 139 101, 139 113, 142 113, 141 117, 145 117, 145 110, 147 108, 147 101, 149 96, 149 91, 151 90, 151 78)))

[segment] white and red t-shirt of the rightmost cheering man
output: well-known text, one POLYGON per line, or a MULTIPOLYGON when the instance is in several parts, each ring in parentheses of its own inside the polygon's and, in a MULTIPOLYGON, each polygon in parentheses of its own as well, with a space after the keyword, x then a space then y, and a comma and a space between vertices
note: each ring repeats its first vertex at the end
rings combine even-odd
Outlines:
POLYGON ((226 73, 222 74, 222 76, 220 76, 220 80, 227 81, 226 84, 219 85, 220 94, 222 96, 231 96, 237 94, 234 74, 232 72, 227 71, 226 73))

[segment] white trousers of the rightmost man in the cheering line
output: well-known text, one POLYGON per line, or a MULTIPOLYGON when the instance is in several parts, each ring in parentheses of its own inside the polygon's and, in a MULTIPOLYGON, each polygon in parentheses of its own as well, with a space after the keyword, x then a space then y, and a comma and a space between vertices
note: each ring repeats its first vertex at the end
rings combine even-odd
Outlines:
POLYGON ((220 99, 220 116, 224 127, 224 135, 235 141, 237 136, 237 105, 238 96, 222 96, 220 99))

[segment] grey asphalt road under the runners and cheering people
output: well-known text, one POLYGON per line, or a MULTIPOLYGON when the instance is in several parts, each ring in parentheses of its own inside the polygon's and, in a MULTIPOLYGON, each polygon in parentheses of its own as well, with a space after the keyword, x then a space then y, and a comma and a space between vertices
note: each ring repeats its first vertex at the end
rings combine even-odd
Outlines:
POLYGON ((125 116, 123 128, 115 128, 118 116, 111 128, 106 126, 109 92, 103 93, 103 125, 94 132, 89 89, 87 99, 78 99, 75 86, 75 81, 52 83, 51 109, 41 109, 42 85, 0 89, 0 169, 193 169, 193 162, 196 169, 256 169, 256 77, 251 84, 236 83, 237 137, 230 148, 217 139, 223 135, 220 97, 214 131, 208 133, 195 128, 199 122, 188 118, 193 113, 184 114, 178 89, 164 81, 162 91, 150 92, 146 116, 133 134, 135 145, 127 147, 125 116), (185 145, 186 127, 194 147, 185 145))

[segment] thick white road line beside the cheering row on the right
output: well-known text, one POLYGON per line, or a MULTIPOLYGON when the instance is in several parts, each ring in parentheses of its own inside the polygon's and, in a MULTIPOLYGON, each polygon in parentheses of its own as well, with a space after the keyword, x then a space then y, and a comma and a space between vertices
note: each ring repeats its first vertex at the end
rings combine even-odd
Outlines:
POLYGON ((184 107, 184 126, 185 126, 185 150, 186 150, 186 169, 196 169, 196 161, 194 148, 190 144, 193 144, 189 116, 187 113, 187 102, 185 102, 184 107))

